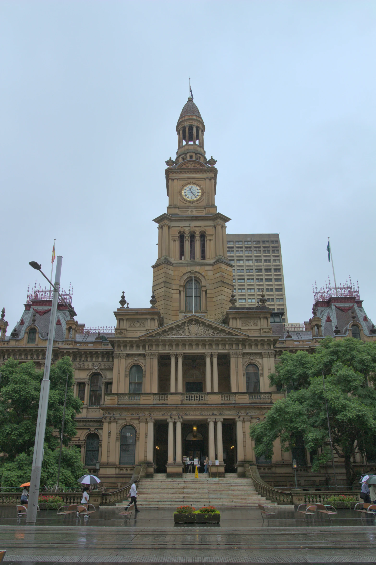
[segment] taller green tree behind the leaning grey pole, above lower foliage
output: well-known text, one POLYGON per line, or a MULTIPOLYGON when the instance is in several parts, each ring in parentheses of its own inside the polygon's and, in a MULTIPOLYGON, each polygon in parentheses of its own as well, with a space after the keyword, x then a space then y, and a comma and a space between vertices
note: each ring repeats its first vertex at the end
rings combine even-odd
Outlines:
MULTIPOLYGON (((32 361, 20 363, 8 360, 1 367, 0 389, 0 451, 14 460, 19 454, 28 455, 36 433, 42 371, 36 371, 32 361)), ((60 444, 63 419, 65 383, 68 375, 67 405, 63 444, 76 434, 75 416, 81 410, 81 401, 73 394, 73 368, 69 357, 64 357, 50 371, 50 395, 47 411, 45 442, 55 449, 60 444)))

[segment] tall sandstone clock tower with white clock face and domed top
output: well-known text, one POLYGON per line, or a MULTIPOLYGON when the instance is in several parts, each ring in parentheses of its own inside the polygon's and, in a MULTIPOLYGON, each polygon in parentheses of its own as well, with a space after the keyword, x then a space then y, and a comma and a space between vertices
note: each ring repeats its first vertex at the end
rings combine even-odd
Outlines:
POLYGON ((187 314, 221 321, 233 292, 227 258, 227 216, 217 212, 216 160, 206 158, 205 125, 189 97, 176 126, 176 159, 166 161, 167 212, 158 224, 153 268, 156 307, 169 324, 187 314))

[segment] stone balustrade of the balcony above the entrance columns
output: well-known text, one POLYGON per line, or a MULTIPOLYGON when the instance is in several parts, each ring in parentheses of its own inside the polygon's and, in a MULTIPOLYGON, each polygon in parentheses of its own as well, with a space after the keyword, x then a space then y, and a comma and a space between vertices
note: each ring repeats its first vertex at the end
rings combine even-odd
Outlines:
POLYGON ((270 392, 222 392, 222 393, 106 393, 105 405, 151 404, 271 404, 270 392))

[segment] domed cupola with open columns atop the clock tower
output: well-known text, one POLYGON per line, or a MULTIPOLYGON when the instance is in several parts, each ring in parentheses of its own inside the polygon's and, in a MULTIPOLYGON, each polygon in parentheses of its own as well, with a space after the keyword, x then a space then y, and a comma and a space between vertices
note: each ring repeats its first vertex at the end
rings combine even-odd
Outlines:
POLYGON ((178 150, 176 163, 194 159, 207 163, 204 150, 205 125, 198 107, 189 96, 183 106, 176 125, 178 134, 178 150))

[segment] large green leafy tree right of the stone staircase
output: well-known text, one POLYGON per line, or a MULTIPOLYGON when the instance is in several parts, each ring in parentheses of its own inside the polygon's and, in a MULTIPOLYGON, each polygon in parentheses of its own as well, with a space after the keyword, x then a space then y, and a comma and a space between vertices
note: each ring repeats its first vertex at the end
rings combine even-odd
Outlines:
POLYGON ((357 476, 353 467, 356 451, 364 457, 367 453, 373 454, 376 343, 364 343, 351 337, 338 341, 328 337, 312 355, 306 351, 296 354, 286 351, 269 379, 271 385, 277 385, 287 396, 274 403, 264 421, 251 425, 256 456, 271 458, 273 442, 278 437, 282 449, 289 451, 299 436, 303 436, 309 451, 322 449, 312 471, 327 463, 331 455, 326 398, 333 447, 344 461, 347 484, 352 484, 357 476))

